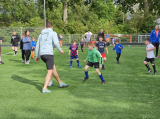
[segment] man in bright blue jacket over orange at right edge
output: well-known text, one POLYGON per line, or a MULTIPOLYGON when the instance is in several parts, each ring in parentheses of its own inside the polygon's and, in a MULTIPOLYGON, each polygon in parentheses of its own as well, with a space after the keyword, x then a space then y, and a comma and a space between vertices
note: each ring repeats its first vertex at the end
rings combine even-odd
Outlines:
POLYGON ((158 50, 159 50, 159 37, 160 37, 160 31, 158 30, 158 25, 155 26, 155 29, 151 31, 150 34, 150 42, 156 47, 156 58, 158 58, 158 50))

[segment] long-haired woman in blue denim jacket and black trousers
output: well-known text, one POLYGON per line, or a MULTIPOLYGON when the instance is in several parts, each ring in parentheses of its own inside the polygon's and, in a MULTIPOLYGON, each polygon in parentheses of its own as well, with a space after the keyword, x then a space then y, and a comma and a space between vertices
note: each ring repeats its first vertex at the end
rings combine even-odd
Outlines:
POLYGON ((26 56, 25 64, 29 64, 30 63, 29 57, 31 55, 31 46, 32 46, 29 30, 25 31, 22 42, 23 42, 23 50, 25 50, 25 56, 26 56))

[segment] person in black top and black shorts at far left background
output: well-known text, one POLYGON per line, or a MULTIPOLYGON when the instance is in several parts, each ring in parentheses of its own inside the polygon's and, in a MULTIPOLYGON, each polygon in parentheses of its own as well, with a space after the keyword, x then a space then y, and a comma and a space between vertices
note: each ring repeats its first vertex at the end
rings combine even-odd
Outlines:
POLYGON ((17 55, 17 47, 18 47, 19 41, 20 41, 20 37, 19 37, 19 35, 16 34, 16 31, 14 31, 13 35, 11 37, 12 50, 15 51, 14 56, 17 55))

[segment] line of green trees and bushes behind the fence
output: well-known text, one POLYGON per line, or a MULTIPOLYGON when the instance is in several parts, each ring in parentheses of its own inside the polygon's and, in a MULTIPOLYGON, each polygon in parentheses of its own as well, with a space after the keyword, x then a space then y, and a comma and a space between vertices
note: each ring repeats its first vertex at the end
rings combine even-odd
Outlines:
MULTIPOLYGON (((63 34, 98 33, 101 28, 112 34, 149 33, 157 24, 159 4, 159 0, 46 0, 46 21, 63 34)), ((0 27, 44 26, 44 0, 1 0, 0 10, 0 27)))

